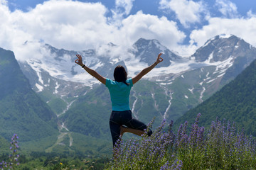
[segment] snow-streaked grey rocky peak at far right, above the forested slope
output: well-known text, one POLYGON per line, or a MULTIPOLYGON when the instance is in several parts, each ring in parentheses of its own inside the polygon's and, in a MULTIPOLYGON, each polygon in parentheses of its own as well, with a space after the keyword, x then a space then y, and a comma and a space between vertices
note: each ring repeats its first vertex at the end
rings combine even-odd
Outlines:
MULTIPOLYGON (((224 85, 234 79, 255 60, 255 47, 235 35, 217 35, 196 50, 191 59, 198 63, 215 66, 215 75, 224 85)), ((208 78, 208 81, 213 79, 208 78)))

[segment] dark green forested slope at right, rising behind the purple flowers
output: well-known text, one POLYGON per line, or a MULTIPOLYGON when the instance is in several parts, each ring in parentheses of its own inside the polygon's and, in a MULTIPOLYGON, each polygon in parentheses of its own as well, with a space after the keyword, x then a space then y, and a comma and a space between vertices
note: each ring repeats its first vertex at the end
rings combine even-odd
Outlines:
POLYGON ((247 134, 256 136, 256 60, 223 89, 174 124, 178 126, 186 120, 193 123, 198 113, 202 114, 199 123, 205 127, 218 117, 234 121, 239 128, 245 128, 247 134))

